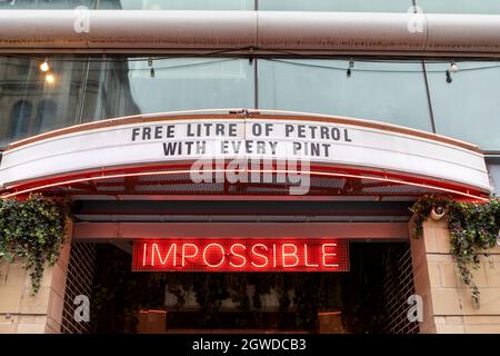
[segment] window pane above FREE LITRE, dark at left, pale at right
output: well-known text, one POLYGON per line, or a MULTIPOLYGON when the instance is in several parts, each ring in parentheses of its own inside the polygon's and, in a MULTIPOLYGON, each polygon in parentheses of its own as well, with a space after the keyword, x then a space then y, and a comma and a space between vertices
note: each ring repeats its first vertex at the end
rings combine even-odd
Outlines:
POLYGON ((193 109, 252 108, 248 59, 160 59, 91 63, 84 120, 193 109), (153 70, 153 73, 151 73, 153 70))

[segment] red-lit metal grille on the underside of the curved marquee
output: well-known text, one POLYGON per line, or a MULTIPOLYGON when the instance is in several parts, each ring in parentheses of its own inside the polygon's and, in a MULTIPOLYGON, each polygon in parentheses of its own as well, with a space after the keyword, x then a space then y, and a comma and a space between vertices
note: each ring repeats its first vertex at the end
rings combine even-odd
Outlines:
MULTIPOLYGON (((313 167, 314 168, 314 167, 313 167)), ((266 181, 261 174, 257 180, 248 182, 229 184, 227 177, 224 182, 217 182, 212 174, 208 182, 193 184, 190 175, 191 166, 166 165, 162 167, 133 167, 114 169, 103 172, 86 172, 84 176, 74 176, 78 182, 64 182, 64 177, 54 178, 54 180, 44 181, 48 184, 42 190, 50 195, 276 195, 283 196, 290 194, 290 187, 297 187, 297 182, 290 181, 290 177, 286 177, 286 182, 281 182, 276 174, 269 182, 266 181), (116 175, 128 175, 127 177, 117 178, 116 175), (140 176, 134 176, 140 175, 140 176), (110 178, 108 178, 109 176, 110 178), (77 179, 78 178, 78 179, 77 179), (60 186, 58 185, 61 184, 60 186)), ((368 174, 344 170, 343 168, 319 167, 314 171, 322 174, 340 174, 352 175, 359 177, 344 178, 342 176, 322 177, 311 175, 308 195, 310 196, 414 196, 420 197, 424 192, 437 192, 431 187, 422 187, 421 179, 387 177, 380 174, 368 174), (384 179, 390 178, 389 181, 384 179)), ((250 177, 251 178, 251 177, 250 177)), ((438 185, 439 182, 429 182, 438 185)), ((36 188, 37 182, 27 185, 24 188, 36 188)), ((459 187, 454 187, 459 189, 459 187)))

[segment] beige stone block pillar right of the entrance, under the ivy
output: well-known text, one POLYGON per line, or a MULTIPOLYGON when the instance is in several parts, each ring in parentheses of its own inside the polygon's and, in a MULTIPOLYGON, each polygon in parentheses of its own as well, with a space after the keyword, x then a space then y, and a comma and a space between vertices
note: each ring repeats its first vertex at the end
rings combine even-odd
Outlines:
POLYGON ((480 290, 478 308, 450 254, 447 220, 429 219, 423 236, 410 239, 416 293, 423 298, 420 333, 500 333, 500 247, 481 256, 480 268, 472 270, 480 290))

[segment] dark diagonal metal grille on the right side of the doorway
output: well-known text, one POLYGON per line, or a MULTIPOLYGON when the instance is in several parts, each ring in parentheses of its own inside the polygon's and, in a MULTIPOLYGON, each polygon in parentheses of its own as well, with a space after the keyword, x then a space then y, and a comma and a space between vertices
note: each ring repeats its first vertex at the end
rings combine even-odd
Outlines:
POLYGON ((386 260, 386 278, 383 281, 383 297, 386 305, 386 334, 418 334, 419 323, 410 322, 407 317, 410 306, 408 298, 414 294, 411 249, 398 256, 390 255, 386 260))

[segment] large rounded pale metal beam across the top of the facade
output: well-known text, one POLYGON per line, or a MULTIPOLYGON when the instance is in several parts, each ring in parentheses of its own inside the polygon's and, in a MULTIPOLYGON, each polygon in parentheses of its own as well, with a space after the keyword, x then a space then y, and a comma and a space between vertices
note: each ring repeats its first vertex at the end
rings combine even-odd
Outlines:
POLYGON ((500 16, 0 10, 0 51, 498 57, 500 16))

